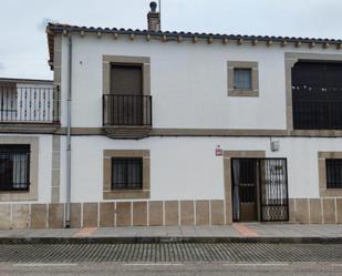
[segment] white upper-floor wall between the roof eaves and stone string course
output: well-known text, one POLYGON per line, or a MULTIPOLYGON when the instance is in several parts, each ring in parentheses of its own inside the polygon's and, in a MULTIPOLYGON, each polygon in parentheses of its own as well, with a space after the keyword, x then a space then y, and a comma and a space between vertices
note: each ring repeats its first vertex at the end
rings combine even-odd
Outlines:
MULTIPOLYGON (((154 127, 286 129, 284 52, 338 53, 263 43, 209 45, 205 41, 163 43, 144 38, 73 35, 72 124, 102 125, 102 57, 110 54, 151 58, 154 127), (259 63, 259 98, 227 96, 228 60, 259 63)), ((68 41, 63 38, 62 101, 66 81, 68 41)), ((62 122, 65 124, 65 112, 62 122)))

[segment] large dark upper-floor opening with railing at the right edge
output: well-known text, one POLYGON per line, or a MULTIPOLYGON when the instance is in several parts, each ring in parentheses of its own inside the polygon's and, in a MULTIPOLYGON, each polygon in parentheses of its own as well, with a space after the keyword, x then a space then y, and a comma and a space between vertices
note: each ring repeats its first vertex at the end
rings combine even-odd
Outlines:
POLYGON ((299 61, 292 69, 293 127, 342 130, 342 63, 299 61))

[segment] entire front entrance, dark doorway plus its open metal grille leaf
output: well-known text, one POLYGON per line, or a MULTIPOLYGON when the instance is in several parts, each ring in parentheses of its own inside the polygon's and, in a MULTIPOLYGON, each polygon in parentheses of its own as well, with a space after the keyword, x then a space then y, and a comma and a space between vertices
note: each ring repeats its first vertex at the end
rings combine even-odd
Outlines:
POLYGON ((286 159, 232 159, 235 222, 289 219, 286 159))

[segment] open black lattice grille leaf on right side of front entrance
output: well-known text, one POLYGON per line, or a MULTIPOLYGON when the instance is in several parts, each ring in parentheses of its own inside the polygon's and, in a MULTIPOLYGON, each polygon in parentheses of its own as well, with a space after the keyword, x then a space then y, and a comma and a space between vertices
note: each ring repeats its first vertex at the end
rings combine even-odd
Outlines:
POLYGON ((289 221, 286 159, 260 160, 261 221, 289 221))

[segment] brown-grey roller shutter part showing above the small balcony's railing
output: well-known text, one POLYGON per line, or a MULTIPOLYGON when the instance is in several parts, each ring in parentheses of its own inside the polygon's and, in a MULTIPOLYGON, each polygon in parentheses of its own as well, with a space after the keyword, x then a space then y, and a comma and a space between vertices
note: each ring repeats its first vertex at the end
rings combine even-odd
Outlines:
POLYGON ((142 94, 142 67, 112 64, 111 93, 120 95, 142 94))

